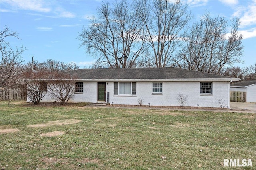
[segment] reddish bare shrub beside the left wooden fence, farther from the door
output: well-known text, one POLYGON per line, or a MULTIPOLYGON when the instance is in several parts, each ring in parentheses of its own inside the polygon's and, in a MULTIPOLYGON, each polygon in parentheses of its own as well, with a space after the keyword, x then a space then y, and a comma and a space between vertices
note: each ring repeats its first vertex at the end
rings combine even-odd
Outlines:
POLYGON ((48 80, 52 79, 51 76, 49 72, 31 70, 24 73, 23 79, 19 81, 18 85, 20 89, 27 92, 28 101, 39 104, 49 89, 48 80))

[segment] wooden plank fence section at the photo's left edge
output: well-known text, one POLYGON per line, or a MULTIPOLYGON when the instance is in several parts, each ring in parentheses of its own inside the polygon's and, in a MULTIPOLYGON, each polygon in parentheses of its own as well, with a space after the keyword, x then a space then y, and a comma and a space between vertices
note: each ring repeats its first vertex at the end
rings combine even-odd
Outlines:
POLYGON ((18 88, 0 89, 0 100, 27 100, 26 92, 18 88))

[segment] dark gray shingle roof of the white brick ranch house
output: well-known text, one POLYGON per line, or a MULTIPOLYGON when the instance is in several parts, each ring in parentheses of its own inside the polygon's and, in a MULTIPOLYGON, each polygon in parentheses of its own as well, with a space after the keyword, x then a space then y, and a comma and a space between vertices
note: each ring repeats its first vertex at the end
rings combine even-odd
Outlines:
POLYGON ((186 70, 182 68, 106 68, 106 69, 78 69, 67 72, 77 79, 229 79, 236 78, 186 70))

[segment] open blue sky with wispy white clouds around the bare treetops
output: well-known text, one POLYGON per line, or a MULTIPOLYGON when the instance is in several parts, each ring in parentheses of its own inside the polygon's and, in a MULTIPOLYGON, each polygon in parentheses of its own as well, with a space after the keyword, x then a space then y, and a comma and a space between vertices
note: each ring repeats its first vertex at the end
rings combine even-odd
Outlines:
MULTIPOLYGON (((104 0, 110 3, 114 0, 104 0)), ((244 64, 256 63, 256 0, 183 0, 189 4, 194 20, 208 10, 212 16, 227 20, 240 18, 243 34, 244 64)), ((12 46, 27 48, 22 54, 25 62, 32 56, 39 62, 53 59, 75 62, 84 68, 94 62, 80 41, 78 32, 88 27, 102 0, 0 0, 0 29, 5 25, 19 33, 20 39, 9 38, 12 46), (80 47, 80 48, 79 48, 80 47)))

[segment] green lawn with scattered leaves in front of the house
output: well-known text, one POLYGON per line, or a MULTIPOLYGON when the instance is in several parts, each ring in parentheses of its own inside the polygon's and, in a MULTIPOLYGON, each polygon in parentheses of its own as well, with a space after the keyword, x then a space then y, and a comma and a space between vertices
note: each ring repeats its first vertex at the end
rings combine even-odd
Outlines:
POLYGON ((0 133, 0 169, 232 169, 223 159, 256 167, 255 113, 82 106, 0 102, 0 132, 19 130, 0 133), (70 119, 81 122, 29 127, 70 119), (54 131, 64 134, 41 136, 54 131))

